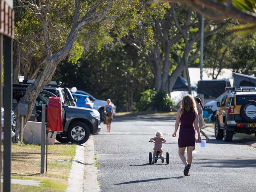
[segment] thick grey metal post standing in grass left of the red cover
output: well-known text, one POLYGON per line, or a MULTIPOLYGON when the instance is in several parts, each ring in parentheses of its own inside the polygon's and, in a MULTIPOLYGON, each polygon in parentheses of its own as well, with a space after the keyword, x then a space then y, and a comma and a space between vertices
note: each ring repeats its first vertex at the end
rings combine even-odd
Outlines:
POLYGON ((41 171, 44 173, 44 145, 45 145, 45 109, 46 104, 42 105, 42 124, 41 124, 41 171))

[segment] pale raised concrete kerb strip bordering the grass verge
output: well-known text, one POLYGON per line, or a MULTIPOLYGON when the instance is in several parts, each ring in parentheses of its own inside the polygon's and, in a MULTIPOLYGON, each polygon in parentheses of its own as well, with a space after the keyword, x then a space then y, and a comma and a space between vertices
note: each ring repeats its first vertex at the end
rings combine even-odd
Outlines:
MULTIPOLYGON (((85 152, 84 144, 76 145, 76 155, 74 159, 84 163, 84 152, 85 152)), ((84 164, 73 162, 69 172, 68 188, 66 191, 82 192, 83 178, 84 178, 84 164)))

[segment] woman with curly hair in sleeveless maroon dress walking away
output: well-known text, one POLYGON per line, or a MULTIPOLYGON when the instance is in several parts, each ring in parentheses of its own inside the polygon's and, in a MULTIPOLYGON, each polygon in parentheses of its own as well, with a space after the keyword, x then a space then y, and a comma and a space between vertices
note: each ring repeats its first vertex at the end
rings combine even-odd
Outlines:
POLYGON ((191 95, 185 95, 182 98, 180 109, 177 112, 175 131, 172 137, 176 137, 177 130, 180 124, 179 132, 179 156, 183 164, 184 175, 189 176, 189 169, 191 167, 193 155, 192 152, 195 150, 196 144, 196 131, 198 134, 199 143, 201 143, 200 129, 198 124, 198 113, 196 108, 196 101, 191 95), (196 128, 196 130, 195 130, 196 128), (187 158, 185 157, 185 149, 187 148, 187 158))

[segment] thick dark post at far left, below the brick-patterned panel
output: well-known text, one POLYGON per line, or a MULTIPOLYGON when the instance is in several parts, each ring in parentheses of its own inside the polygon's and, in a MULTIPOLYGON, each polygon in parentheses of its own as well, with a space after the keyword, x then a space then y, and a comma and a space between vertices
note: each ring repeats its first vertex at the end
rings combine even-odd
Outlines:
POLYGON ((11 191, 12 42, 4 36, 4 192, 11 191))

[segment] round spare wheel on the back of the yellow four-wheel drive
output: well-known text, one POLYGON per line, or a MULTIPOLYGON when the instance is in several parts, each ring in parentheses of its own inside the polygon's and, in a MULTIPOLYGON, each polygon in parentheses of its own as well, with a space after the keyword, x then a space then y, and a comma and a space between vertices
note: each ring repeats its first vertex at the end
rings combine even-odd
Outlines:
POLYGON ((256 122, 256 101, 249 100, 245 102, 240 109, 241 116, 250 123, 256 122))

